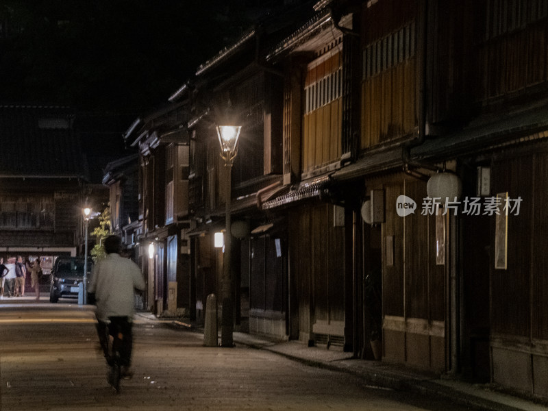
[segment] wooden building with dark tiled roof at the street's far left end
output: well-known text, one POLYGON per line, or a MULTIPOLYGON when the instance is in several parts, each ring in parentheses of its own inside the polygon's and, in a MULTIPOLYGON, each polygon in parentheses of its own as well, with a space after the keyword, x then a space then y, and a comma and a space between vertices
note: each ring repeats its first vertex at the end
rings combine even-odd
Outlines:
POLYGON ((75 110, 67 107, 0 107, 0 256, 5 261, 17 255, 40 258, 49 274, 57 256, 83 251, 83 208, 102 193, 88 184, 75 121, 75 110))

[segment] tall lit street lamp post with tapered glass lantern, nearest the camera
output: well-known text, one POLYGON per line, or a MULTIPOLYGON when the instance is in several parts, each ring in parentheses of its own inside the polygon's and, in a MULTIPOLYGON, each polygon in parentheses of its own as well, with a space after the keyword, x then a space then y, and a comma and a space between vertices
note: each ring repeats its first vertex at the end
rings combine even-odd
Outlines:
POLYGON ((225 160, 227 168, 227 198, 225 212, 225 256, 223 258, 223 316, 221 319, 221 347, 234 347, 232 334, 234 332, 234 301, 233 301, 233 279, 232 279, 232 250, 230 234, 230 199, 232 193, 232 162, 236 157, 238 137, 240 136, 241 125, 218 125, 217 136, 221 145, 221 157, 225 160))

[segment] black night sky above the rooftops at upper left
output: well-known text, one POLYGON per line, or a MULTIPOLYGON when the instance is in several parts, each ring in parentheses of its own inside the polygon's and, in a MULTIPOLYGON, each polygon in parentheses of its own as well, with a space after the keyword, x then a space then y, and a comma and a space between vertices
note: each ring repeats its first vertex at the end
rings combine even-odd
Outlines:
POLYGON ((145 112, 251 24, 242 10, 222 0, 3 0, 0 103, 145 112))

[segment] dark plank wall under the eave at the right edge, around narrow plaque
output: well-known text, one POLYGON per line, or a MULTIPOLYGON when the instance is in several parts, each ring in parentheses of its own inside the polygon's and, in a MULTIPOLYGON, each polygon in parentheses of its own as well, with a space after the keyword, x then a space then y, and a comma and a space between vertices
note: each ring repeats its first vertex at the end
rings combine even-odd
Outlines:
POLYGON ((522 199, 519 215, 508 216, 508 268, 495 270, 493 256, 490 261, 490 311, 497 334, 548 339, 547 164, 544 147, 493 166, 494 193, 508 191, 510 199, 522 199))

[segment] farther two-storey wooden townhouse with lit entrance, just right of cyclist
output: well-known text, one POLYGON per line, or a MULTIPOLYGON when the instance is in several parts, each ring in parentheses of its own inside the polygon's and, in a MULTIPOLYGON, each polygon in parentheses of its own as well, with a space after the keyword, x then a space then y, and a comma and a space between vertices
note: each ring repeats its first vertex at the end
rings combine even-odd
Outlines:
MULTIPOLYGON (((188 311, 188 114, 169 105, 134 121, 124 135, 138 147, 138 219, 128 221, 145 273, 145 307, 158 315, 188 311)), ((119 214, 113 214, 121 218, 119 214)), ((129 240, 129 238, 128 238, 129 240)))

